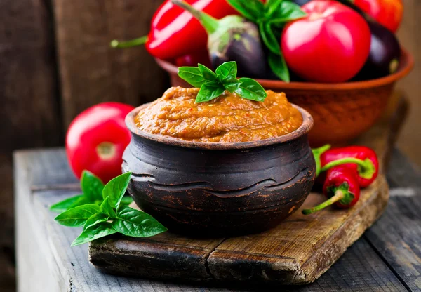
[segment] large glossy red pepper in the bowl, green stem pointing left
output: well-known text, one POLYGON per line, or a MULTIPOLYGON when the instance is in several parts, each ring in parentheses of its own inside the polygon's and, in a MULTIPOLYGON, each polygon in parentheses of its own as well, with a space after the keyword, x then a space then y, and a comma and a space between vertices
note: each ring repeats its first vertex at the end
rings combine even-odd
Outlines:
MULTIPOLYGON (((214 18, 239 13, 226 0, 186 0, 194 8, 214 18)), ((170 0, 159 6, 152 18, 147 36, 131 41, 112 41, 113 48, 128 48, 146 45, 147 51, 156 58, 168 60, 195 51, 204 51, 208 46, 208 34, 194 16, 175 6, 170 0)))

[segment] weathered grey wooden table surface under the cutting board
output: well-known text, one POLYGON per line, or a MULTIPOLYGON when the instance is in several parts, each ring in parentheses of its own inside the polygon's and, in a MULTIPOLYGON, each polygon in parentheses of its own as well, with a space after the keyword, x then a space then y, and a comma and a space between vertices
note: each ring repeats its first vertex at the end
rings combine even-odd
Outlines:
POLYGON ((421 171, 394 150, 385 214, 316 282, 307 286, 185 284, 115 277, 71 248, 79 228, 54 223, 48 207, 78 194, 61 149, 15 153, 18 291, 421 291, 421 171))

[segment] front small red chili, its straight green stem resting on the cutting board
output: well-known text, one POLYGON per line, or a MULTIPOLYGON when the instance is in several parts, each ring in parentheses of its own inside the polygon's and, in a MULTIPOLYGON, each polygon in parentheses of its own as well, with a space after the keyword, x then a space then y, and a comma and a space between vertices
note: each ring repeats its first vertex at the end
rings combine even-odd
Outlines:
POLYGON ((309 215, 332 204, 339 208, 354 206, 359 200, 360 187, 352 168, 336 166, 329 169, 323 184, 323 194, 328 198, 326 201, 313 208, 302 210, 302 213, 309 215))

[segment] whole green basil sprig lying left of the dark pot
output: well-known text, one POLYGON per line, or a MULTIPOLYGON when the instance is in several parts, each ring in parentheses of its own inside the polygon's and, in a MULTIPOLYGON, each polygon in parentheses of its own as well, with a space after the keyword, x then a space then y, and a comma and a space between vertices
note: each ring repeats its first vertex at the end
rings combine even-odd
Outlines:
POLYGON ((152 237, 167 230, 151 215, 127 206, 132 201, 124 197, 130 178, 131 173, 124 173, 104 185, 95 175, 84 171, 83 194, 51 206, 53 211, 62 211, 55 218, 61 225, 83 226, 72 246, 117 232, 129 237, 152 237))

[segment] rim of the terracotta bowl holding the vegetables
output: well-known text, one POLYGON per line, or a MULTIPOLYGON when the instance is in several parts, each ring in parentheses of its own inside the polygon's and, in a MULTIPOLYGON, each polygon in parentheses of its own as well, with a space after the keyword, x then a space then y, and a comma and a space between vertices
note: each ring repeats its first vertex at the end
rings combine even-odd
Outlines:
MULTIPOLYGON (((178 67, 173 65, 171 62, 157 59, 156 62, 159 66, 165 69, 170 74, 177 74, 178 67)), ((342 83, 315 83, 315 82, 290 82, 286 83, 281 80, 269 80, 269 79, 255 79, 264 88, 272 88, 275 90, 305 90, 305 91, 349 91, 359 90, 364 88, 375 88, 379 86, 385 86, 392 84, 395 81, 408 75, 411 69, 414 67, 414 58, 408 51, 401 49, 401 58, 399 58, 399 67, 394 74, 387 75, 385 77, 370 79, 365 81, 352 81, 342 83)))

